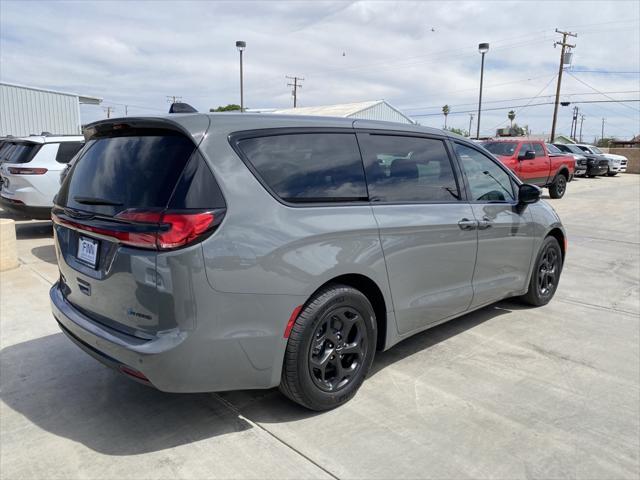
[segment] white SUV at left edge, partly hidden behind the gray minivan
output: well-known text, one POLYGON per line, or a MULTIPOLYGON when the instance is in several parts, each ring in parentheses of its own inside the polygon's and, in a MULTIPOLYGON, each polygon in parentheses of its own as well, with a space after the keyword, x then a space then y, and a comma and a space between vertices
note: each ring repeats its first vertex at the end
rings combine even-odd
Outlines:
POLYGON ((50 219, 60 172, 84 145, 81 135, 32 135, 0 149, 0 206, 21 216, 50 219))

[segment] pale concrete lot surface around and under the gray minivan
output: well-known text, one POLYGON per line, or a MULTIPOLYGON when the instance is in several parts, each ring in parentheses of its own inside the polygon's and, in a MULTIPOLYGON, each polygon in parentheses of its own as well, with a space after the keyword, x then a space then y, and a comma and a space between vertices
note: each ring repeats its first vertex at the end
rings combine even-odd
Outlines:
POLYGON ((0 275, 0 476, 639 478, 640 176, 549 201, 569 234, 549 305, 501 302, 406 340, 322 414, 104 368, 51 316, 50 225, 21 222, 21 266, 0 275))

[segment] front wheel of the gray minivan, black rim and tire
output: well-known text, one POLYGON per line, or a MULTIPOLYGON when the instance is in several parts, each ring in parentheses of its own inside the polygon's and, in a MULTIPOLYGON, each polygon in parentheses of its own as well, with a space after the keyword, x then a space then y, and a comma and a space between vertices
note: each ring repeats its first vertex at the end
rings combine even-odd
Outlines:
POLYGON ((529 291, 520 297, 523 302, 540 307, 553 298, 562 273, 562 250, 555 237, 548 236, 542 242, 529 280, 529 291))

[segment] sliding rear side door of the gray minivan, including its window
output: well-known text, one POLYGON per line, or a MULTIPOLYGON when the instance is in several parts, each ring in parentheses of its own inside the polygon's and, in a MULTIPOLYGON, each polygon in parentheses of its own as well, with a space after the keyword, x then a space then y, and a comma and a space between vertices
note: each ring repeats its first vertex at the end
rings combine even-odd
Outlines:
POLYGON ((359 132, 396 320, 407 334, 471 302, 477 232, 439 137, 359 132))

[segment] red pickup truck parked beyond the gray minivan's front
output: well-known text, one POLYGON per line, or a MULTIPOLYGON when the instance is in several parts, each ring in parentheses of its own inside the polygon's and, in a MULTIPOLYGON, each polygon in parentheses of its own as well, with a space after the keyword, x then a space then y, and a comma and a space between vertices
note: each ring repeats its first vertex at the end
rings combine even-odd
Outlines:
POLYGON ((575 159, 570 155, 550 156, 542 141, 511 138, 489 140, 483 146, 523 182, 549 188, 551 198, 562 198, 567 183, 573 180, 575 159))

